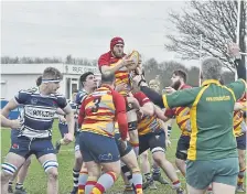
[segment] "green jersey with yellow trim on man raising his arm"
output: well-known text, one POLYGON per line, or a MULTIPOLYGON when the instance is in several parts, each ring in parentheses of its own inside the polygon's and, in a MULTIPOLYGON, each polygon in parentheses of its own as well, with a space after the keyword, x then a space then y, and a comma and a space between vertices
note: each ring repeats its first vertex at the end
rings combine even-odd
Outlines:
POLYGON ((246 89, 244 79, 223 86, 205 80, 201 87, 163 95, 165 108, 190 107, 191 142, 189 160, 214 160, 237 157, 233 130, 235 101, 246 89))

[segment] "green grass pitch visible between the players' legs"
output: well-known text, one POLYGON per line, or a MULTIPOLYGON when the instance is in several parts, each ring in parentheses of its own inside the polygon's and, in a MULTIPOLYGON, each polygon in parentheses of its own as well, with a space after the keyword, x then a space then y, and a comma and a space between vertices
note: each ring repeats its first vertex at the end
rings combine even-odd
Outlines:
MULTIPOLYGON (((2 129, 1 130, 1 162, 4 161, 4 157, 10 148, 10 130, 2 129)), ((172 147, 167 150, 167 158, 170 162, 174 164, 175 161, 175 149, 178 138, 180 136, 180 130, 176 126, 172 128, 171 132, 171 142, 172 147)), ((53 128, 53 142, 61 139, 57 120, 54 122, 53 128)), ((150 155, 150 154, 149 154, 150 155)), ((58 181, 60 181, 60 194, 68 194, 73 188, 73 176, 72 169, 74 166, 74 142, 68 146, 64 146, 61 148, 61 152, 57 155, 58 158, 58 181)), ((164 175, 163 175, 164 176, 164 175)), ((185 179, 179 173, 180 180, 185 186, 185 179)), ((164 176, 167 179, 167 176, 164 176)), ((157 183, 158 190, 146 190, 147 194, 173 194, 174 191, 171 190, 169 185, 161 185, 157 183)), ((45 194, 46 193, 46 175, 44 173, 43 168, 37 162, 35 155, 32 157, 32 163, 28 173, 28 177, 24 182, 24 187, 26 188, 28 194, 45 194)), ((115 186, 107 193, 117 194, 121 193, 124 190, 124 183, 121 177, 115 183, 115 186)))

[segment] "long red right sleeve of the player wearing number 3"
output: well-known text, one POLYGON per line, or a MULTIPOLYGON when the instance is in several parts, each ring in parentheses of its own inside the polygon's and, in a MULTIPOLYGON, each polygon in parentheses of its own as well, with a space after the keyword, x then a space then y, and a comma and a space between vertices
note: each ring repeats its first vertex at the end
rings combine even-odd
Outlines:
POLYGON ((117 116, 117 121, 119 126, 119 131, 121 133, 121 139, 126 140, 127 132, 128 132, 128 122, 127 122, 127 115, 126 115, 125 98, 114 90, 112 90, 112 96, 114 96, 114 104, 116 108, 116 116, 117 116))

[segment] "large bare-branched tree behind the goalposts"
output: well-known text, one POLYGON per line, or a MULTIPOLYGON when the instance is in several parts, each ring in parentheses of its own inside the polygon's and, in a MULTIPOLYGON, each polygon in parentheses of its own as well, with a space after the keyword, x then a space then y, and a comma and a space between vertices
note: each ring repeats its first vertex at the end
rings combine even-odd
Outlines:
MULTIPOLYGON (((246 1, 240 1, 240 37, 239 46, 246 52, 246 1)), ((236 42, 237 1, 200 1, 186 3, 182 13, 169 14, 179 35, 167 34, 171 41, 165 48, 176 52, 183 60, 200 57, 200 35, 202 35, 202 56, 211 55, 221 58, 232 71, 234 64, 226 52, 226 44, 236 42)), ((245 64, 245 57, 243 57, 245 64)))

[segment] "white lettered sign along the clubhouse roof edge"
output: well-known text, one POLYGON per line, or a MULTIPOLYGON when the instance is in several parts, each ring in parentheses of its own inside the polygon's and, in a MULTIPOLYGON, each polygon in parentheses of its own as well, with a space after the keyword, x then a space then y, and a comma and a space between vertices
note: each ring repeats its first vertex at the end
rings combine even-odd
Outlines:
POLYGON ((83 65, 65 65, 65 73, 66 74, 76 74, 82 75, 86 72, 93 72, 94 74, 98 74, 98 67, 96 66, 83 66, 83 65))

